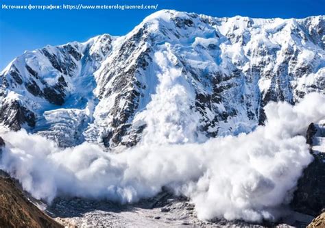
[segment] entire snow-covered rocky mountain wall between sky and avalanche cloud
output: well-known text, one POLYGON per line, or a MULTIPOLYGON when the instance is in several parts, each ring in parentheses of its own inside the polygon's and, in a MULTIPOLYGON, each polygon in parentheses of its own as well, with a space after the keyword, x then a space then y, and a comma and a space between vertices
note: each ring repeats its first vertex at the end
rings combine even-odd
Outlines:
POLYGON ((324 16, 163 10, 125 36, 16 58, 0 74, 0 121, 62 147, 197 142, 252 131, 269 101, 324 94, 324 76, 324 16))

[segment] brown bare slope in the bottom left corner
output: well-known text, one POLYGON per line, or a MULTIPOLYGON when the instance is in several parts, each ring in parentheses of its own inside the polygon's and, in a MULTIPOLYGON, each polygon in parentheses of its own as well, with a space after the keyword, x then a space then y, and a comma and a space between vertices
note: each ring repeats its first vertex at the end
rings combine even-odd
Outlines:
POLYGON ((9 177, 0 177, 0 227, 63 227, 33 205, 9 177))

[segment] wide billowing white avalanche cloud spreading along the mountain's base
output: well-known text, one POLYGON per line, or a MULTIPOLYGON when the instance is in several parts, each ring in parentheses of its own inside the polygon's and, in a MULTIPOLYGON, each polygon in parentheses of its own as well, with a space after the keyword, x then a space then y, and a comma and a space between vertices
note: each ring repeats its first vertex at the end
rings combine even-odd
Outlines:
POLYGON ((250 134, 140 144, 122 153, 104 153, 88 143, 59 149, 40 136, 8 132, 1 135, 7 141, 1 168, 48 201, 69 194, 128 203, 167 186, 190 197, 202 219, 274 220, 312 160, 300 134, 324 118, 325 97, 307 94, 296 106, 269 103, 265 113, 266 125, 250 134))

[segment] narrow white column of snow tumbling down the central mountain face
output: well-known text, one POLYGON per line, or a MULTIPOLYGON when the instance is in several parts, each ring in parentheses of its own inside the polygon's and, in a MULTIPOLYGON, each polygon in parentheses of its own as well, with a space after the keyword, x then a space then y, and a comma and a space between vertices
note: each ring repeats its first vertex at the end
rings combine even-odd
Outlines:
POLYGON ((165 50, 154 56, 160 69, 156 94, 134 121, 140 119, 147 125, 143 132, 145 144, 197 142, 204 137, 197 136, 200 118, 191 110, 195 92, 182 75, 182 69, 176 67, 178 59, 169 50, 169 45, 165 46, 165 50))

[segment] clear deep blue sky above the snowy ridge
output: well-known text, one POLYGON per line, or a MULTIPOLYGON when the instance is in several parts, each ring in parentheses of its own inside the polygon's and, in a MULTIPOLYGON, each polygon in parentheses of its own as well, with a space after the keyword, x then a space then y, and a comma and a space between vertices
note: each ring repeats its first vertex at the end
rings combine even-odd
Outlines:
MULTIPOLYGON (((304 18, 324 15, 325 0, 0 0, 2 4, 158 4, 210 16, 304 18)), ((108 33, 123 35, 154 10, 2 10, 0 8, 0 69, 17 55, 45 45, 85 41, 108 33)))

